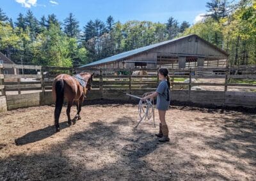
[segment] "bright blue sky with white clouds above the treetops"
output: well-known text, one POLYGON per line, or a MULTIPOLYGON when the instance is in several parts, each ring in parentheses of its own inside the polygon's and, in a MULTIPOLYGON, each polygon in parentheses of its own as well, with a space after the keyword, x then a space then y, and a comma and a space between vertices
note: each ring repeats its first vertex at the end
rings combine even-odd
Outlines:
POLYGON ((205 13, 209 0, 1 0, 0 8, 14 21, 19 13, 29 9, 36 18, 54 13, 63 21, 68 13, 74 13, 80 28, 89 20, 99 18, 106 21, 111 15, 115 21, 148 20, 165 23, 169 17, 178 22, 184 20, 194 24, 205 13))

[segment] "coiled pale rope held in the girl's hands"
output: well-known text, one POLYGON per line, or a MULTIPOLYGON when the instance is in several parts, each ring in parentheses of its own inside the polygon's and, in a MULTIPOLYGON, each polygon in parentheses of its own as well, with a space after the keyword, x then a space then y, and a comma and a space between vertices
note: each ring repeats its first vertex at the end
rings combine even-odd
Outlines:
MULTIPOLYGON (((145 98, 149 94, 152 94, 153 92, 147 92, 142 95, 141 98, 145 98)), ((140 116, 140 121, 135 126, 137 128, 142 120, 150 120, 153 117, 154 127, 156 127, 155 124, 155 112, 154 112, 154 99, 146 99, 142 100, 138 96, 134 96, 132 94, 126 94, 127 96, 131 96, 132 98, 140 99, 139 105, 138 105, 138 114, 140 116)))

